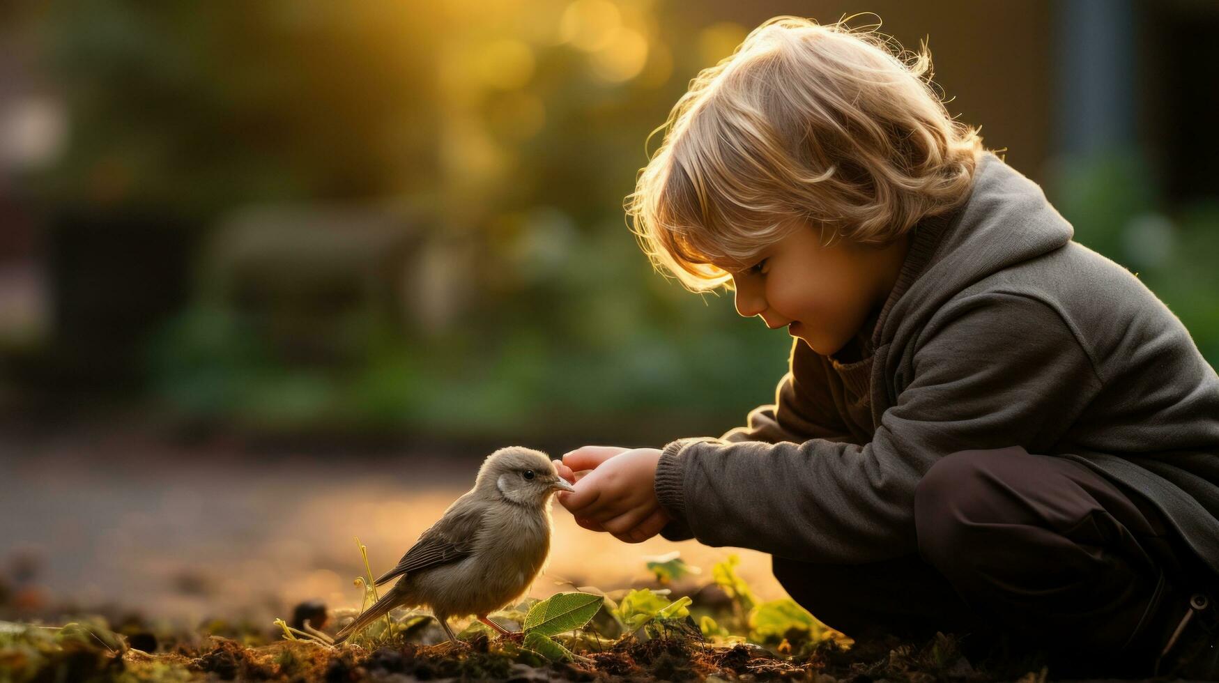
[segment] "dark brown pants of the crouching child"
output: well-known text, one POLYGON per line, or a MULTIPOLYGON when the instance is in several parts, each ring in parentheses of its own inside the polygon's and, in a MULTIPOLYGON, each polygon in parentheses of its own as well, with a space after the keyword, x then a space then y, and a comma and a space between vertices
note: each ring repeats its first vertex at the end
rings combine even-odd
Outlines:
POLYGON ((1140 494, 1020 446, 935 462, 914 492, 914 522, 917 555, 865 565, 775 556, 774 576, 857 639, 1006 633, 1045 650, 1139 661, 1156 646, 1151 632, 1180 618, 1169 615, 1180 587, 1208 576, 1140 494))

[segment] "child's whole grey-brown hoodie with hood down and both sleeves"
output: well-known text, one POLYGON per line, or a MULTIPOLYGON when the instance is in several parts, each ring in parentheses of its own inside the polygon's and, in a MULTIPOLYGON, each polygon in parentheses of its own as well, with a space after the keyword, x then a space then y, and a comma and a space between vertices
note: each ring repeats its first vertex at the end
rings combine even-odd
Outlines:
POLYGON ((1073 234, 986 152, 968 202, 915 226, 840 357, 796 339, 746 427, 664 446, 662 535, 808 562, 915 554, 931 465, 1022 445, 1145 495, 1219 573, 1219 377, 1135 274, 1073 234))

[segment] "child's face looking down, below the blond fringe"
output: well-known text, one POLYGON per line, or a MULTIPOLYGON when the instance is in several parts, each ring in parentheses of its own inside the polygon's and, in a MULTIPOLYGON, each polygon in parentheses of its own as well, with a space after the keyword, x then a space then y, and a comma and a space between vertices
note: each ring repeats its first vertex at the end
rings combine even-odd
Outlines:
POLYGON ((728 268, 736 290, 736 312, 761 316, 814 351, 833 355, 863 326, 873 307, 883 305, 906 260, 909 238, 889 246, 840 240, 823 246, 819 231, 801 224, 763 249, 758 262, 728 268))

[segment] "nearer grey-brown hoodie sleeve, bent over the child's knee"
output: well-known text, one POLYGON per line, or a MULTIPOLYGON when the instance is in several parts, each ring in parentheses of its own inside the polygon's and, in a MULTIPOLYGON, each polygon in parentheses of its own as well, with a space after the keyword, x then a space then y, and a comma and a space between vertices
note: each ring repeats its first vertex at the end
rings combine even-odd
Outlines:
POLYGON ((1045 451, 1101 385, 1065 321, 1022 294, 952 301, 923 338, 908 385, 865 445, 667 444, 656 468, 657 498, 674 518, 667 529, 808 562, 909 555, 914 487, 936 460, 1008 445, 1045 451))

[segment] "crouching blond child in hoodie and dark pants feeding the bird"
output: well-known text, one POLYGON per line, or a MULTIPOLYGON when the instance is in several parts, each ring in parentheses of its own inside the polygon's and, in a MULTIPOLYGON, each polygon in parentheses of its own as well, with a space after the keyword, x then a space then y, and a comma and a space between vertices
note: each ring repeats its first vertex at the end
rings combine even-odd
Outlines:
POLYGON ((658 270, 786 328, 790 372, 723 437, 568 452, 564 477, 590 472, 560 500, 628 543, 772 554, 848 635, 997 628, 1214 673, 1219 377, 951 120, 929 67, 779 17, 691 82, 634 231, 658 270))

